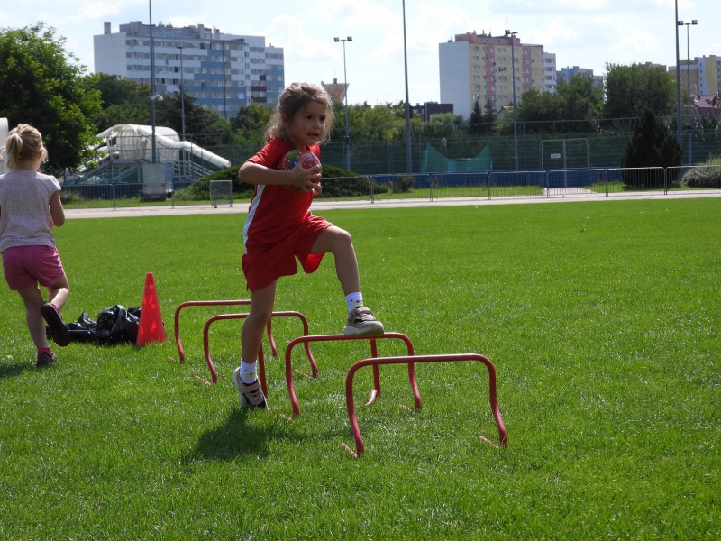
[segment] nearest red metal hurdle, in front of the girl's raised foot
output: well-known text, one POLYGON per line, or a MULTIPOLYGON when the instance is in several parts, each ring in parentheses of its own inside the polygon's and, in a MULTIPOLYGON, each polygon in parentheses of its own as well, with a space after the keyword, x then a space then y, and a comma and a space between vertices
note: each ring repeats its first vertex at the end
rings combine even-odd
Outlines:
MULTIPOLYGON (((353 438, 355 439, 355 448, 358 454, 365 453, 365 446, 363 445, 363 438, 360 436, 360 428, 358 427, 358 419, 355 416, 355 404, 353 402, 353 377, 355 372, 363 366, 372 365, 373 370, 378 370, 379 364, 407 364, 408 373, 410 373, 410 367, 416 362, 456 362, 456 361, 479 361, 483 362, 488 368, 488 395, 490 398, 490 409, 493 412, 493 417, 496 419, 496 426, 498 428, 498 438, 501 445, 508 445, 508 436, 506 432, 506 426, 503 425, 503 419, 501 413, 498 410, 498 401, 496 396, 496 369, 493 363, 488 360, 488 357, 479 355, 477 353, 459 353, 451 355, 417 355, 413 357, 375 357, 370 359, 364 359, 362 361, 355 362, 351 366, 351 370, 348 371, 348 376, 345 379, 345 401, 348 407, 348 419, 351 421, 351 430, 353 431, 353 438)), ((415 386, 415 378, 411 382, 413 388, 413 394, 415 398, 415 408, 421 408, 421 398, 418 394, 418 389, 415 386)), ((479 439, 485 440, 483 436, 479 436, 479 439)), ((349 449, 349 451, 351 451, 349 449)), ((352 451, 351 451, 351 454, 352 451)), ((355 455, 355 454, 354 454, 355 455)))

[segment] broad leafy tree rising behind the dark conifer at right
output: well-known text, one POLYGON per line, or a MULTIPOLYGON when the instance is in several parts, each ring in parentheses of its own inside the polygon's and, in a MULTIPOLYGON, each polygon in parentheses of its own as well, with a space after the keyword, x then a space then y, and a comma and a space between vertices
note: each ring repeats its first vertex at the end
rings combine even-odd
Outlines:
POLYGON ((649 108, 655 115, 671 115, 676 90, 661 67, 606 65, 606 118, 634 118, 649 108))

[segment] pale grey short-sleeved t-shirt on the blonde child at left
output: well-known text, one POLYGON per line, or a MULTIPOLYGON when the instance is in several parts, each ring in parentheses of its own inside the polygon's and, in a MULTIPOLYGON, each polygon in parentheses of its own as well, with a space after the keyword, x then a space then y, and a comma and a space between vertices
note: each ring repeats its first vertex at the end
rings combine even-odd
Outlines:
POLYGON ((33 170, 0 175, 0 253, 14 246, 55 247, 50 197, 58 179, 33 170))

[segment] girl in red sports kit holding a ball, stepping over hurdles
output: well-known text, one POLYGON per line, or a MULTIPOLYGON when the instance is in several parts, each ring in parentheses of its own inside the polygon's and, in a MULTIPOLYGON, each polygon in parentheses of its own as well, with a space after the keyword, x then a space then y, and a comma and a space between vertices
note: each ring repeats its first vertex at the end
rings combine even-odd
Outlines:
POLYGON ((293 83, 280 95, 278 111, 266 130, 266 145, 242 164, 238 178, 255 185, 243 226, 242 271, 251 291, 251 309, 242 325, 241 366, 233 371, 242 408, 266 408, 256 374, 263 333, 273 311, 281 276, 297 273, 296 258, 306 273, 318 269, 333 253, 348 319, 345 335, 382 335, 381 324, 363 304, 360 275, 351 234, 310 213, 321 193, 321 166, 304 169, 298 160, 278 170, 288 151, 310 151, 320 157, 319 142, 330 133, 333 103, 321 87, 293 83))

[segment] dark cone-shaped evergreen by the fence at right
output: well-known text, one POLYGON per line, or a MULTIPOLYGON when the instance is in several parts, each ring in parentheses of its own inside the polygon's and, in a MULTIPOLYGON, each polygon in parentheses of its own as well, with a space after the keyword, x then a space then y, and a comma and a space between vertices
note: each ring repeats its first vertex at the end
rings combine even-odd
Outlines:
POLYGON ((680 143, 668 126, 657 119, 650 108, 646 108, 636 120, 634 134, 621 157, 625 183, 658 188, 662 186, 662 172, 649 168, 676 168, 682 159, 680 143))

